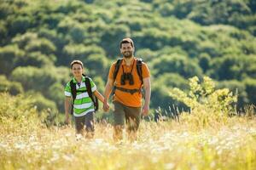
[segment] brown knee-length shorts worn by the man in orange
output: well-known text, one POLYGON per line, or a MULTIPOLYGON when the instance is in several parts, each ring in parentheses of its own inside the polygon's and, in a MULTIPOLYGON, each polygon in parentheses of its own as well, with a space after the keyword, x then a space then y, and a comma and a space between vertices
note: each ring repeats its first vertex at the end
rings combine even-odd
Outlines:
POLYGON ((137 131, 141 120, 141 107, 130 107, 113 101, 113 125, 124 126, 126 123, 127 129, 137 131))

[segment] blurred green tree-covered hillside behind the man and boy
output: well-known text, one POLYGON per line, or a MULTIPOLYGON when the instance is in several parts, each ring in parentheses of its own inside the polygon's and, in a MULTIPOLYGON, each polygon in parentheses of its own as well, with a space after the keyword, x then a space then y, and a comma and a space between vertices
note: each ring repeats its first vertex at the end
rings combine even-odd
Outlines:
POLYGON ((38 109, 63 112, 69 63, 103 92, 108 69, 131 37, 152 75, 152 110, 184 107, 170 88, 212 77, 256 104, 256 3, 253 0, 12 0, 0 4, 0 92, 32 95, 38 109))

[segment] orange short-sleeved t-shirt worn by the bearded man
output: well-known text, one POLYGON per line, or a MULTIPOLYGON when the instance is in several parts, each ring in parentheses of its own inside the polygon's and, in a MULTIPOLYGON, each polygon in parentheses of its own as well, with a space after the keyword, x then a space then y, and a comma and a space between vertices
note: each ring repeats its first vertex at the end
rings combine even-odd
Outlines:
MULTIPOLYGON (((125 65, 125 59, 121 61, 121 64, 119 65, 119 71, 118 74, 115 78, 115 82, 113 82, 113 85, 119 88, 126 88, 126 89, 139 89, 141 88, 141 80, 140 77, 137 74, 137 59, 134 58, 131 61, 131 65, 125 65), (131 68, 133 67, 132 71, 131 68), (123 74, 123 68, 125 73, 130 73, 133 76, 133 85, 130 85, 128 80, 125 80, 125 85, 121 85, 121 76, 123 74)), ((115 68, 116 62, 113 63, 110 67, 110 71, 108 73, 108 78, 113 80, 113 72, 115 68)), ((143 63, 142 65, 142 70, 143 70, 143 78, 150 77, 150 73, 148 70, 148 66, 143 63)), ((142 106, 142 93, 134 93, 130 94, 127 92, 123 92, 119 89, 115 89, 114 94, 113 94, 113 101, 119 101, 123 105, 131 106, 131 107, 141 107, 142 106)))

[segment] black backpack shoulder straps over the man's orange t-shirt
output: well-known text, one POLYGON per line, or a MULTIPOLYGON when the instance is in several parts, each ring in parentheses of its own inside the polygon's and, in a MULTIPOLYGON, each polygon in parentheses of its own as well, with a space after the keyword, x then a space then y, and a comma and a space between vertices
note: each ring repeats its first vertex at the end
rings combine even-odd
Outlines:
MULTIPOLYGON (((114 66, 114 71, 113 71, 113 82, 115 81, 115 78, 117 77, 117 74, 119 72, 119 67, 122 63, 123 59, 118 59, 116 61, 116 64, 114 66)), ((137 75, 140 77, 141 80, 141 85, 143 85, 143 59, 137 58, 137 63, 136 63, 136 68, 137 68, 137 75)))

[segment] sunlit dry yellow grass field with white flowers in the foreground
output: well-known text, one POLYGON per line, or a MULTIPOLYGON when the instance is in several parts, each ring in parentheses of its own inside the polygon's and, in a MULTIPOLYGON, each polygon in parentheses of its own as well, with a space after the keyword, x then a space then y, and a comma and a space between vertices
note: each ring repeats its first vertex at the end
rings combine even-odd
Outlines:
POLYGON ((256 119, 230 118, 197 128, 185 122, 142 122, 136 142, 114 144, 112 127, 95 139, 73 127, 0 131, 0 169, 256 169, 256 119))

